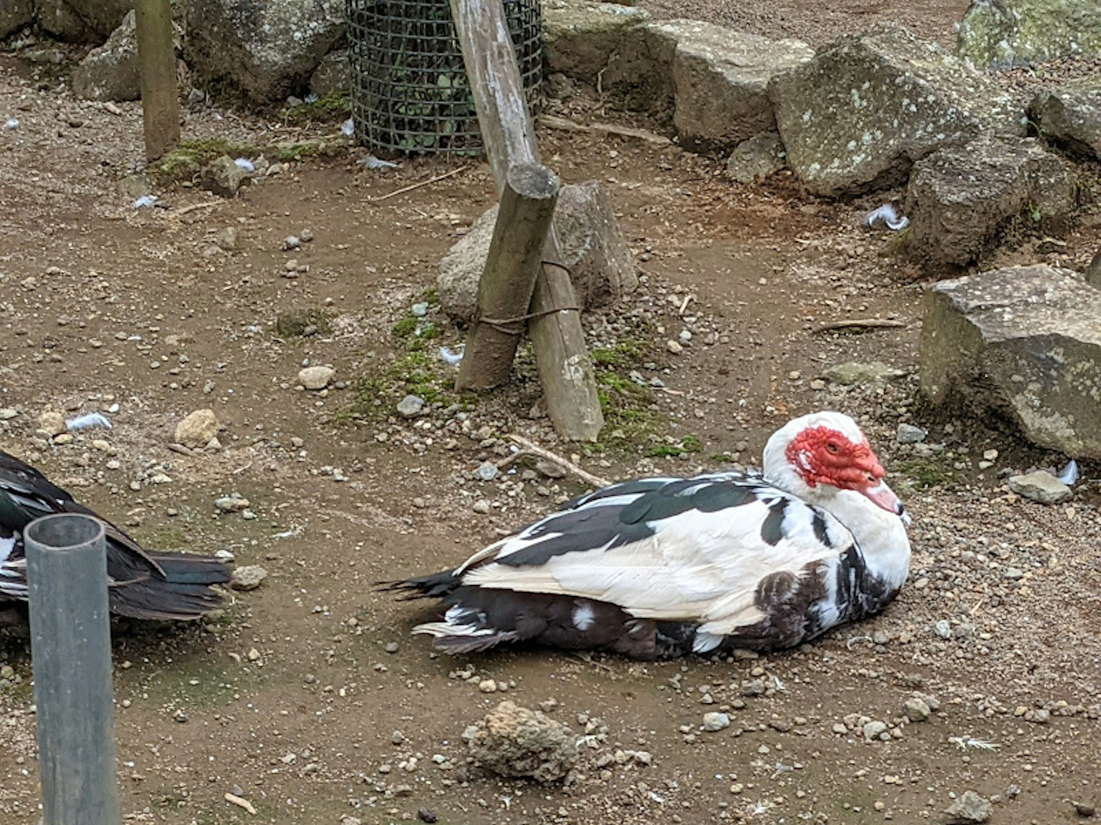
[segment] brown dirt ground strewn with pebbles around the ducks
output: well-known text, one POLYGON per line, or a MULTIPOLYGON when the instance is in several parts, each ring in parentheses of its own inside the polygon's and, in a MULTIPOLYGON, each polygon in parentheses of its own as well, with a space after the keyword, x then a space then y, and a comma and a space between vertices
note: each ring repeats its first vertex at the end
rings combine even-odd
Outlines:
MULTIPOLYGON (((738 14, 819 43, 903 10, 950 41, 963 6, 743 2, 738 14)), ((584 119, 587 107, 567 108, 584 119)), ((527 353, 510 388, 472 402, 447 389, 437 349, 461 332, 430 288, 439 257, 493 201, 483 164, 377 201, 454 165, 381 173, 345 151, 292 163, 237 199, 174 187, 134 209, 116 184, 141 166, 140 107, 116 111, 0 54, 0 121, 20 120, 0 132, 0 408, 18 414, 0 420, 0 448, 149 546, 229 550, 270 572, 204 626, 117 627, 128 822, 944 822, 952 796, 974 790, 995 802, 993 822, 1053 823, 1101 804, 1098 468, 1084 468, 1069 505, 1021 501, 1006 471, 1061 457, 916 403, 923 275, 889 232, 860 226, 883 194, 819 201, 784 175, 731 185, 721 161, 676 147, 541 132, 564 179, 604 182, 643 275, 635 295, 587 318, 612 420, 582 450, 532 417, 527 353), (216 243, 227 228, 238 231, 228 251, 216 243), (313 240, 284 251, 304 230, 313 240), (418 302, 423 319, 411 314, 418 302), (316 329, 276 329, 287 312, 316 329), (905 326, 815 331, 851 318, 905 326), (671 352, 684 331, 690 340, 671 352), (904 374, 821 381, 850 360, 904 374), (337 384, 296 388, 307 363, 331 364, 337 384), (427 415, 396 414, 411 389, 427 415), (115 427, 51 443, 35 435, 47 407, 102 410, 115 427), (225 425, 222 449, 170 451, 175 424, 201 407, 225 425), (873 622, 756 659, 517 650, 468 661, 408 635, 426 608, 372 591, 454 565, 584 490, 523 466, 479 480, 483 461, 508 455, 509 432, 604 477, 688 474, 755 464, 773 429, 828 407, 866 427, 915 516, 911 581, 873 622), (944 450, 897 443, 900 422, 928 428, 944 450), (255 518, 218 512, 230 493, 255 518), (915 696, 934 708, 927 721, 904 719, 915 696), (590 735, 576 781, 544 787, 468 763, 464 729, 502 698, 590 735), (731 726, 701 732, 715 710, 731 726), (886 740, 865 740, 868 722, 884 723, 886 740), (615 758, 628 750, 651 763, 615 758)), ((185 134, 303 136, 275 116, 221 107, 189 109, 185 134)), ((1065 246, 1026 239, 995 262, 1081 268, 1098 227, 1083 215, 1065 246)), ((36 823, 25 634, 0 639, 0 664, 12 669, 0 681, 0 812, 36 823)))

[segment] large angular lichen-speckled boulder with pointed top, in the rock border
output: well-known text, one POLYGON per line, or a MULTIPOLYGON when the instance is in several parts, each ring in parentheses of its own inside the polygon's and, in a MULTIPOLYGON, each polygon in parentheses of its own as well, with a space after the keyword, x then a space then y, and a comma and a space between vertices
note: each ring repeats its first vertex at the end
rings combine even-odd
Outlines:
POLYGON ((816 195, 895 186, 942 146, 1024 133, 1010 95, 900 26, 841 37, 768 89, 787 164, 816 195))

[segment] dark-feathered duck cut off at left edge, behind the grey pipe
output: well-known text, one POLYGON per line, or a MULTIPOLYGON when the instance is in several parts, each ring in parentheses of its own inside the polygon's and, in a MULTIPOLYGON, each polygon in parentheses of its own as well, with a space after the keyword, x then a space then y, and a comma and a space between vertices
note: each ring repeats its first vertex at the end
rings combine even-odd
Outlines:
POLYGON ((148 552, 122 530, 73 501, 41 472, 0 450, 0 602, 23 601, 26 558, 22 531, 40 516, 80 513, 107 529, 111 613, 140 619, 197 619, 221 604, 210 585, 226 584, 230 566, 217 559, 148 552))

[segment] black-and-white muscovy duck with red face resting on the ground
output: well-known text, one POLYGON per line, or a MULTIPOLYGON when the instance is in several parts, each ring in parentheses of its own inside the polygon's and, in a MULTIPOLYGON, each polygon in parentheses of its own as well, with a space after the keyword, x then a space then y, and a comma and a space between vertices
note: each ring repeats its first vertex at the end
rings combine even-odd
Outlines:
POLYGON ((882 610, 909 571, 909 515, 840 413, 776 431, 763 473, 598 490, 459 568, 385 582, 443 600, 414 632, 449 653, 531 641, 639 659, 792 647, 882 610))

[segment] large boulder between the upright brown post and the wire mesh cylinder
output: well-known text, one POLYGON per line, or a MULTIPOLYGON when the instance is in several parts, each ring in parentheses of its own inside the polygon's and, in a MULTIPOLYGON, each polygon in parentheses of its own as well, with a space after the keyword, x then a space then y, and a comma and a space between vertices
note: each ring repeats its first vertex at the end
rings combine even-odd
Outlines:
POLYGON ((185 55, 255 101, 303 88, 345 36, 344 0, 190 0, 185 55))

